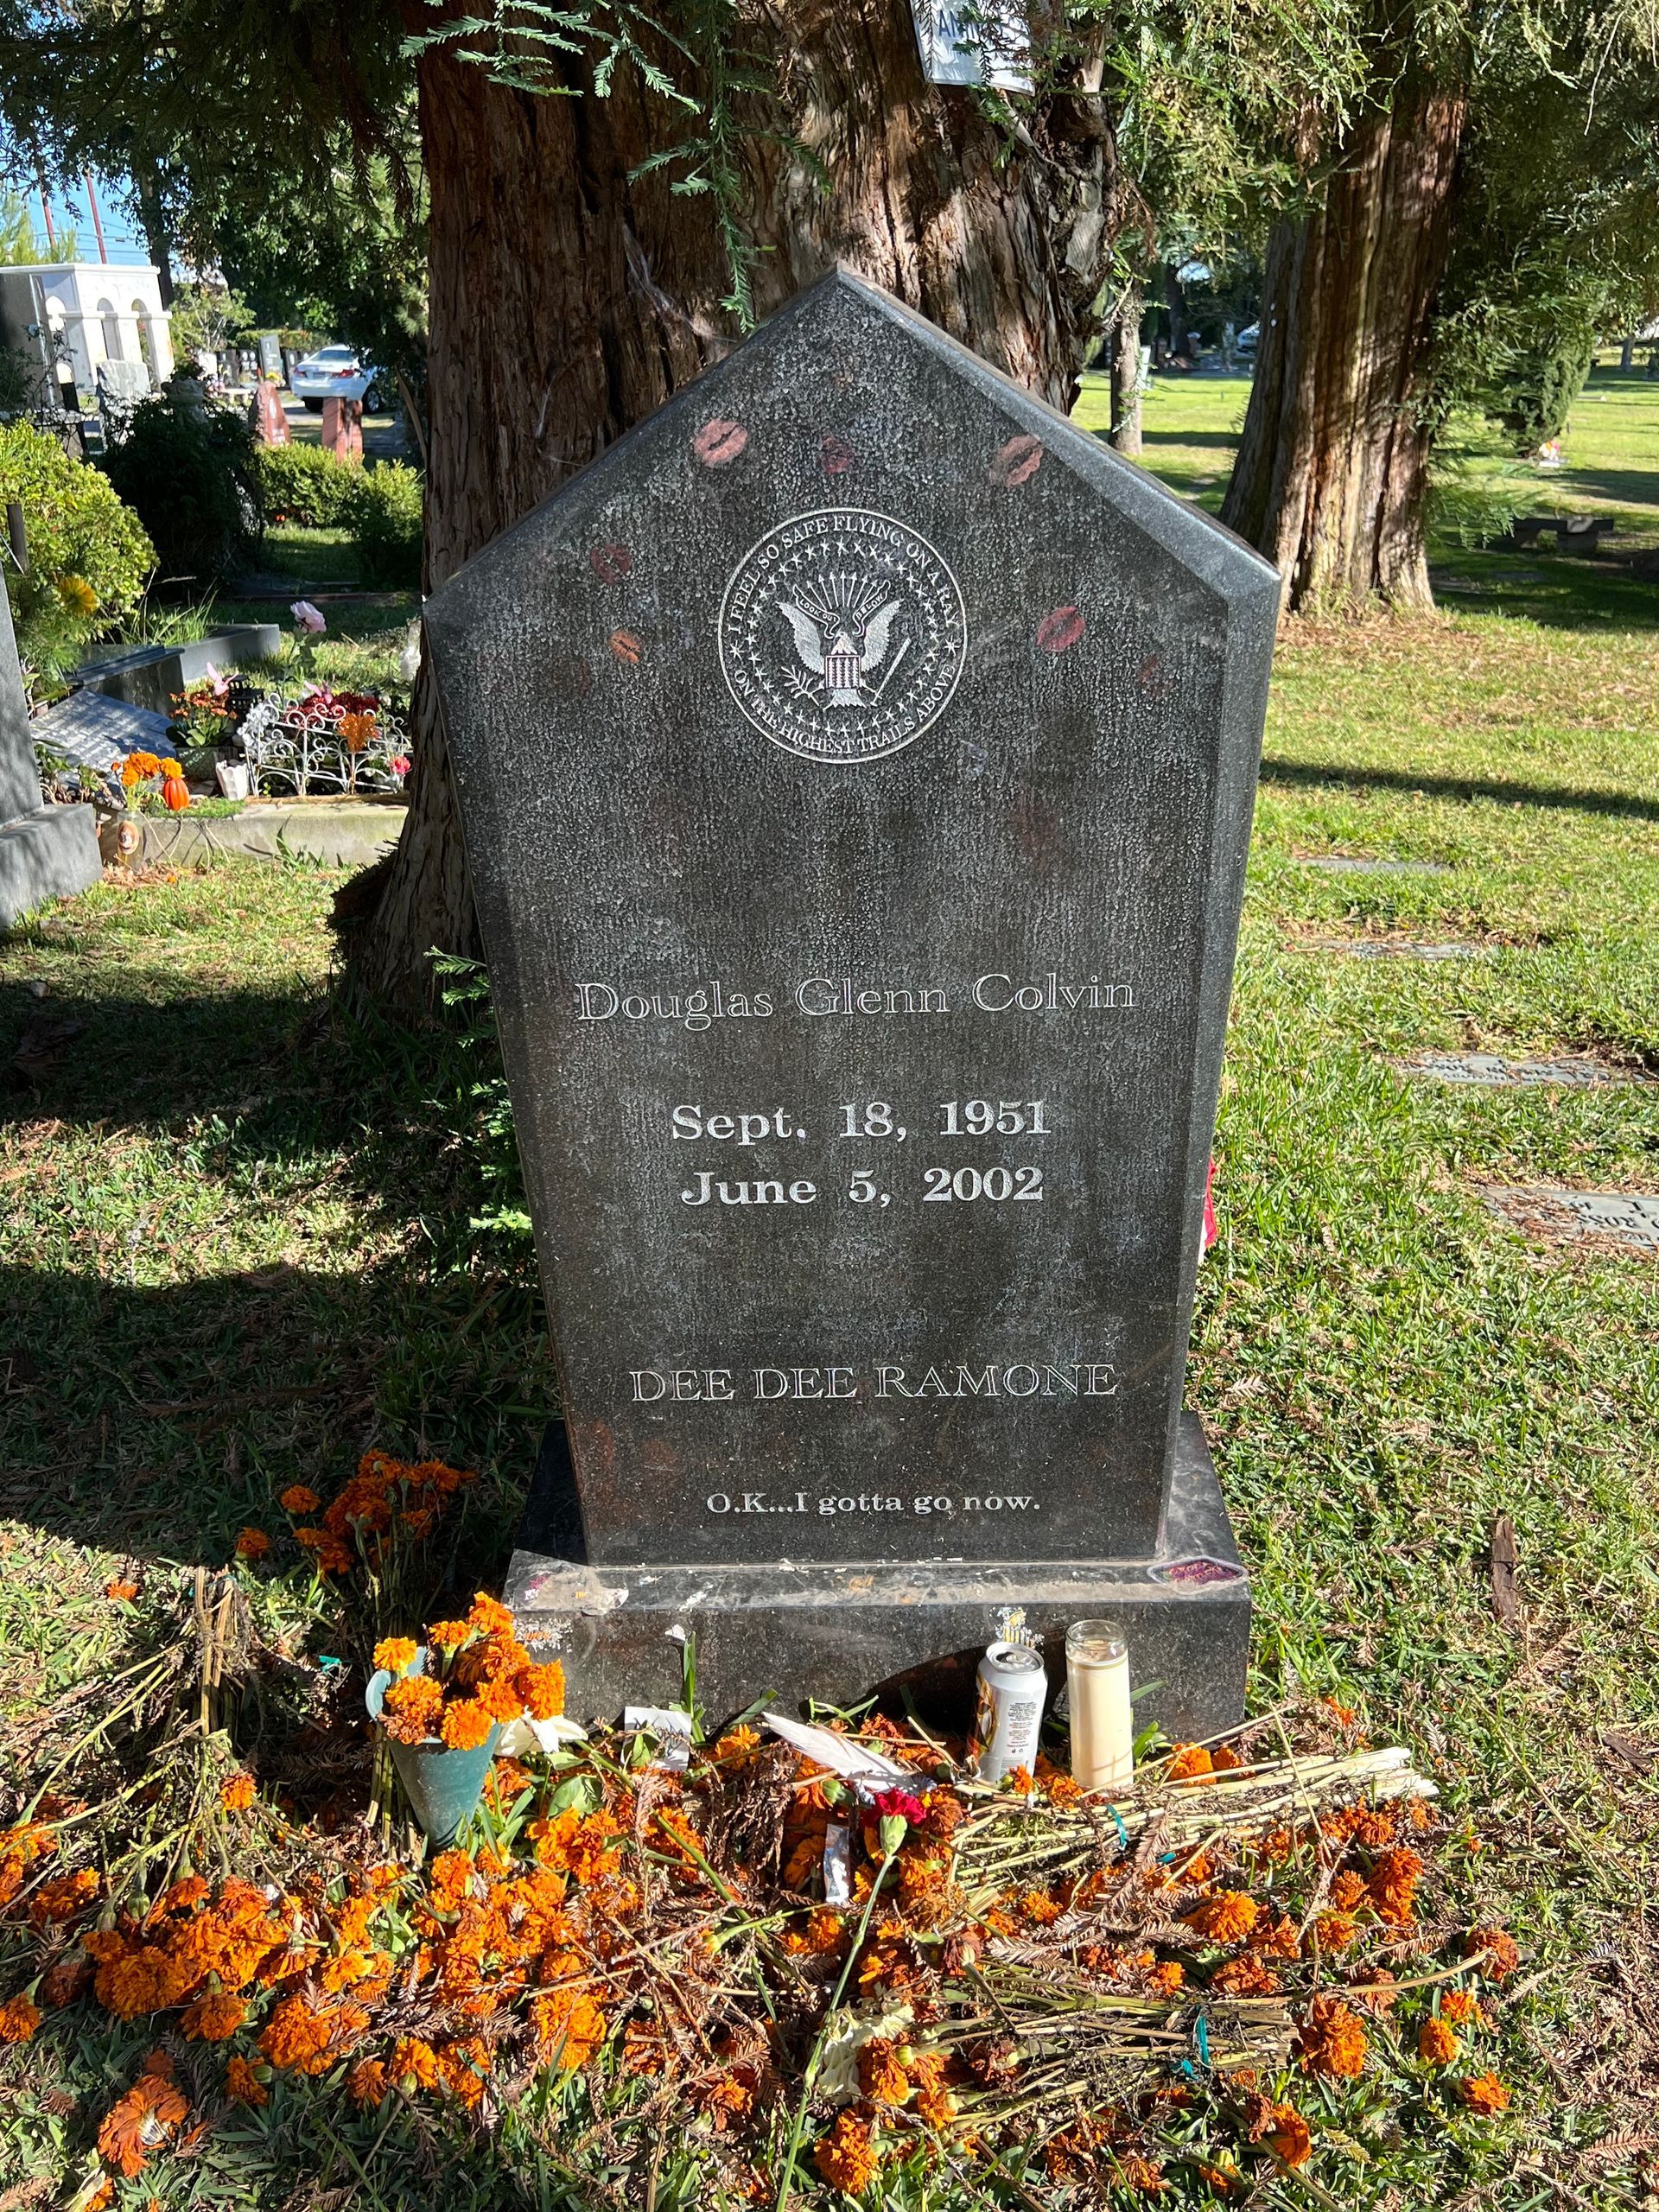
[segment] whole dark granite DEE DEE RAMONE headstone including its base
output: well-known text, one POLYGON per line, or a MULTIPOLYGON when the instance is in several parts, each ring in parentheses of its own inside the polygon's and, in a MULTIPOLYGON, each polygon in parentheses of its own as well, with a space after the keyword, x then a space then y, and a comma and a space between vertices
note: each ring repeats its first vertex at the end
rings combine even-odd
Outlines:
POLYGON ((1181 1371, 1274 606, 836 274, 427 608, 564 1376, 513 1599, 595 1708, 1006 1606, 1237 1708, 1181 1371))

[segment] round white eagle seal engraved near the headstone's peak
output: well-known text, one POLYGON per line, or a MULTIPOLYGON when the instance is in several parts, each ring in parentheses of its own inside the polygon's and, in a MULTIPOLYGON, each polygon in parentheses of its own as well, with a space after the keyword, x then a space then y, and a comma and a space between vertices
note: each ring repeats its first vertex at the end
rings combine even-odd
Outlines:
POLYGON ((748 719, 803 761, 883 761, 951 701, 967 657, 962 591, 891 515, 792 515, 737 564, 719 613, 721 675, 748 719))

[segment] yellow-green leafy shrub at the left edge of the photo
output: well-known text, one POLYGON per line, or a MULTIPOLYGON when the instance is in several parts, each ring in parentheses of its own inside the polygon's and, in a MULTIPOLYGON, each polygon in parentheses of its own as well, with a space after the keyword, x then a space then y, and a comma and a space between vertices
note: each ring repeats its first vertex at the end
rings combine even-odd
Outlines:
POLYGON ((0 509, 9 500, 29 526, 27 575, 4 564, 18 650, 62 675, 137 606, 155 546, 106 476, 29 422, 0 425, 0 509))

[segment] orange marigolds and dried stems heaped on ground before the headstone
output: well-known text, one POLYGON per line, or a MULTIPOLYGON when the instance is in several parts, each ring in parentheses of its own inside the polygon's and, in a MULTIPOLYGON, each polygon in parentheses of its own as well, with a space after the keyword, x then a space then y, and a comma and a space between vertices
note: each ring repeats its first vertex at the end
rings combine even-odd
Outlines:
MULTIPOLYGON (((445 1741, 495 1686, 502 1710, 551 1701, 489 1599, 429 1646, 451 1705, 411 1650, 376 1652, 411 1728, 434 1694, 445 1741)), ((911 2161, 1013 2163, 1026 2199, 1225 2194, 1378 2112, 1506 2126, 1517 1953, 1427 1796, 1177 1750, 1113 1809, 1044 1763, 991 1790, 933 1741, 865 1739, 905 1776, 874 1803, 750 1728, 679 1774, 604 1732, 498 1756, 462 1845, 422 1863, 367 1825, 327 1856, 290 1832, 288 1878, 155 1896, 111 1898, 46 1798, 0 1838, 0 2037, 75 2037, 88 2006, 144 2024, 159 2055, 104 2115, 111 2179, 232 2108, 411 2099, 489 2128, 538 2077, 584 2077, 584 2126, 646 2099, 757 2201, 860 2197, 911 2161), (217 2090, 192 2101, 166 2044, 210 2046, 217 2090)), ((223 1805, 252 1823, 254 1781, 223 1805)))

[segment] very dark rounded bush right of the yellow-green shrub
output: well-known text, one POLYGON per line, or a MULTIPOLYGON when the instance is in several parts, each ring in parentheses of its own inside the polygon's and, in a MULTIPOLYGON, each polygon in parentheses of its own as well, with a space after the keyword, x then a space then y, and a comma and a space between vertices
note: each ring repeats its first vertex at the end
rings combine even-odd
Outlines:
POLYGON ((155 540, 164 582, 212 582, 259 544, 265 511, 252 431, 223 407, 181 398, 177 380, 133 409, 104 467, 155 540))

